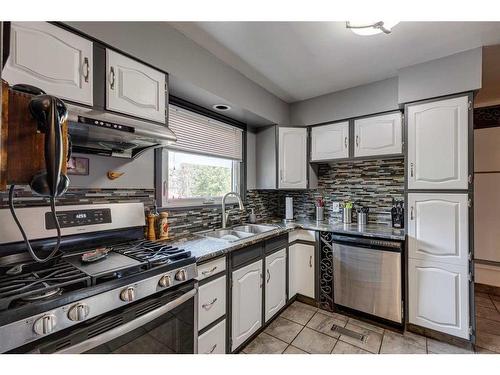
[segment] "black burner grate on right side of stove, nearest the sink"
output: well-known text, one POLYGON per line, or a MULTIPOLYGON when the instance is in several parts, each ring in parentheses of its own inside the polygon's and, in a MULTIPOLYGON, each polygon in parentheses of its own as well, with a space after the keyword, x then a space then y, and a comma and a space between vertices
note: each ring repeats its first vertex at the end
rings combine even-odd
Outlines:
POLYGON ((191 256, 190 251, 148 240, 114 246, 113 250, 140 261, 147 261, 150 267, 170 264, 191 256))

